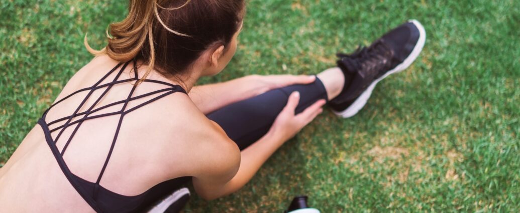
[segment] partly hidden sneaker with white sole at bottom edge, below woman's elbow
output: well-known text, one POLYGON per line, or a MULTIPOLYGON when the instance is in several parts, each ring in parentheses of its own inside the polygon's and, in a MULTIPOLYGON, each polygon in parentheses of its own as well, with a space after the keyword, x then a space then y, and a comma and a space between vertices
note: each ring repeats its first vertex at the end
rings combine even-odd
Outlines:
POLYGON ((177 213, 190 200, 190 190, 181 188, 171 195, 163 198, 157 205, 153 206, 147 213, 177 213))

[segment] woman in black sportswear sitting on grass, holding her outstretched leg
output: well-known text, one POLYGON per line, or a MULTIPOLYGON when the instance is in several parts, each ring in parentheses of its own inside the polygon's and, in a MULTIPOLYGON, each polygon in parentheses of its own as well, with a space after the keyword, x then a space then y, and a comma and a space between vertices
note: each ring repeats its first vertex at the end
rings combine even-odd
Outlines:
POLYGON ((2 212, 139 212, 192 180, 207 200, 247 183, 328 105, 355 115, 424 45, 407 22, 316 76, 194 87, 231 60, 244 1, 137 1, 0 169, 2 212), (30 201, 30 205, 28 202, 30 201))

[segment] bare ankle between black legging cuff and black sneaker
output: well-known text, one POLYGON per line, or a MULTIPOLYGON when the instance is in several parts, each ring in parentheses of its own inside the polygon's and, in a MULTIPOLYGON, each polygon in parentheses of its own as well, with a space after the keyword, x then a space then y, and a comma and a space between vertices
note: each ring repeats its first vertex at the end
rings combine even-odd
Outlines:
POLYGON ((323 72, 319 73, 316 76, 323 83, 323 86, 327 91, 329 101, 332 100, 332 98, 339 95, 343 90, 343 86, 345 84, 345 76, 343 75, 343 72, 339 67, 328 68, 326 70, 323 70, 323 72))

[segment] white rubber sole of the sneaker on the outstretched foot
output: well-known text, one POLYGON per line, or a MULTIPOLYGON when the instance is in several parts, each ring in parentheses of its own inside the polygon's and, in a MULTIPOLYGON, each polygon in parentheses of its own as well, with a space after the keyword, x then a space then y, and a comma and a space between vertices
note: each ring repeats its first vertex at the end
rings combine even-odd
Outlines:
POLYGON ((413 48, 410 55, 408 55, 408 58, 405 59, 402 63, 398 64, 394 69, 386 72, 385 75, 379 77, 374 82, 370 84, 370 86, 365 90, 365 92, 361 93, 359 97, 352 103, 349 107, 347 107, 343 111, 334 111, 332 110, 337 116, 343 117, 343 118, 350 118, 354 115, 356 115, 359 110, 367 104, 368 98, 370 98, 370 95, 372 94, 372 91, 375 88, 375 85, 378 84, 379 81, 383 80, 387 76, 399 73, 402 70, 405 70, 408 68, 415 59, 417 59, 417 56, 419 56, 419 53, 421 53, 422 48, 424 47, 424 42, 426 41, 426 31, 424 30, 423 25, 417 21, 417 20, 409 20, 408 22, 412 22, 415 26, 417 26, 417 29, 419 29, 419 40, 417 41, 417 45, 413 48))

